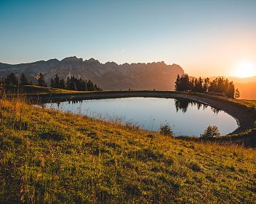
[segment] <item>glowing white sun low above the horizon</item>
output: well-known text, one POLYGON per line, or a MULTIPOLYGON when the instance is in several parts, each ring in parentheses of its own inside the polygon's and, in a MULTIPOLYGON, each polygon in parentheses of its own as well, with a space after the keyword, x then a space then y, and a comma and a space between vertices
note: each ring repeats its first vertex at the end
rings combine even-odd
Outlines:
POLYGON ((239 78, 250 77, 256 75, 256 66, 254 63, 249 61, 243 61, 238 63, 235 70, 235 76, 239 78))

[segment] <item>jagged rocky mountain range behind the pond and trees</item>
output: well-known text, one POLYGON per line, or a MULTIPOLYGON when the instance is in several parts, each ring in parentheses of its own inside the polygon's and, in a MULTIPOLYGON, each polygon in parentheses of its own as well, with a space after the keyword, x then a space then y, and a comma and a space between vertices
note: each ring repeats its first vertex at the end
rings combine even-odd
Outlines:
POLYGON ((173 90, 176 76, 184 74, 181 66, 166 65, 164 62, 118 65, 114 62, 103 64, 93 58, 83 60, 76 57, 64 58, 63 60, 41 60, 17 65, 0 63, 0 76, 6 76, 11 72, 24 73, 29 76, 29 80, 34 82, 34 76, 41 72, 48 85, 55 74, 63 79, 73 75, 83 79, 91 79, 104 90, 128 90, 129 88, 135 90, 173 90))

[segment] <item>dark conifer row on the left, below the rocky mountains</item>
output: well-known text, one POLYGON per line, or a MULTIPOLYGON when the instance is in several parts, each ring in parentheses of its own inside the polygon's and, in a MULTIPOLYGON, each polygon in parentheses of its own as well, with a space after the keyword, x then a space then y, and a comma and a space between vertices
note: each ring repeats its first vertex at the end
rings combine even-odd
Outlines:
MULTIPOLYGON (((37 80, 37 86, 47 87, 45 78, 42 73, 37 74, 34 77, 37 80)), ((0 79, 0 88, 4 90, 17 90, 18 87, 25 85, 33 85, 33 82, 29 82, 25 74, 21 74, 20 77, 14 73, 8 74, 7 76, 0 79)), ((80 91, 102 91, 101 88, 97 87, 96 84, 89 81, 85 81, 75 76, 67 77, 67 81, 59 79, 58 74, 50 80, 50 87, 65 89, 65 90, 80 90, 80 91)))

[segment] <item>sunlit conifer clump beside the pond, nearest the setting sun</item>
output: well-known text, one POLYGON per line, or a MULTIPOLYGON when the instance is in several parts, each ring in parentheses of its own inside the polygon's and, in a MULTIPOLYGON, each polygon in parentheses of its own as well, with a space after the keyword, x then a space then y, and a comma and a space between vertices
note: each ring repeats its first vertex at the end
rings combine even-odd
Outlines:
POLYGON ((239 90, 235 88, 233 82, 229 82, 228 79, 217 77, 213 81, 209 78, 202 79, 200 76, 197 78, 189 78, 188 74, 182 74, 177 76, 175 82, 176 91, 192 91, 197 93, 215 93, 223 95, 229 98, 239 98, 239 90))

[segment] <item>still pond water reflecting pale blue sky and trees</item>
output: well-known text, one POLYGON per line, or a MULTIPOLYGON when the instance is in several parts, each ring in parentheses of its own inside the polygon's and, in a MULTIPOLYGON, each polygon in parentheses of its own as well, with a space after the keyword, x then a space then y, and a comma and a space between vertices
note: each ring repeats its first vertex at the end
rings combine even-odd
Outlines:
POLYGON ((208 125, 223 135, 238 127, 225 111, 184 98, 113 98, 46 103, 47 108, 71 111, 97 119, 121 120, 146 130, 159 130, 168 123, 176 136, 200 136, 208 125))

